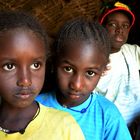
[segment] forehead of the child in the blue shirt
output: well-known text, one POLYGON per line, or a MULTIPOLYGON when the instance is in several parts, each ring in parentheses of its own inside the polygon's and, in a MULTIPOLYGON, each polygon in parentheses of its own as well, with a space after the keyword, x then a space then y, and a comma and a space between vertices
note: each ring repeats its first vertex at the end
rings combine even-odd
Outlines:
POLYGON ((104 53, 93 42, 73 41, 64 45, 61 58, 71 59, 75 62, 86 63, 99 60, 101 57, 106 61, 104 53))

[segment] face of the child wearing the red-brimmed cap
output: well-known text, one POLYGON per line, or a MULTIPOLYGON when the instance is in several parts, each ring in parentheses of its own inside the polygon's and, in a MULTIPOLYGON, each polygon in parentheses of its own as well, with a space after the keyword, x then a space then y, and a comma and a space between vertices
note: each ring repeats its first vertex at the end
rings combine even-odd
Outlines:
POLYGON ((111 36, 112 49, 119 51, 128 38, 130 30, 128 17, 120 12, 112 13, 108 15, 106 28, 111 36))

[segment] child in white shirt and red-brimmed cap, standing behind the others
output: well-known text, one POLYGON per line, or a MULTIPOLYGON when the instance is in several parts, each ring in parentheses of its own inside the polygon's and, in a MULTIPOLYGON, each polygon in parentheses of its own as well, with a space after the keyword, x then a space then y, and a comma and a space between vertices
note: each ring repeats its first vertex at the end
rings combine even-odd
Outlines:
POLYGON ((100 79, 96 90, 118 107, 131 129, 132 122, 140 115, 140 47, 127 43, 135 15, 123 3, 109 5, 101 14, 100 23, 112 40, 111 68, 100 79))

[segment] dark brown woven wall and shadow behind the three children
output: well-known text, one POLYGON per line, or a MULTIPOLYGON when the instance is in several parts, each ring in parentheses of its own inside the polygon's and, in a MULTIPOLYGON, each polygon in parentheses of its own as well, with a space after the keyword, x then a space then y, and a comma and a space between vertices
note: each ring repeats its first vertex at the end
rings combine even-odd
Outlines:
MULTIPOLYGON (((22 10, 35 15, 45 26, 50 39, 69 19, 87 17, 97 20, 104 3, 118 0, 0 0, 0 10, 22 10)), ((140 46, 140 0, 119 0, 127 4, 136 16, 128 43, 140 46)))

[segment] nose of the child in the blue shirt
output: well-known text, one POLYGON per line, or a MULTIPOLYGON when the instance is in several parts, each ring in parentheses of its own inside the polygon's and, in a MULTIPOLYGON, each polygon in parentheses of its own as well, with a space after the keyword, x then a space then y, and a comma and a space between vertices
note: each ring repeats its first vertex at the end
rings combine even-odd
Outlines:
POLYGON ((74 75, 72 77, 71 82, 70 82, 71 89, 73 89, 76 92, 79 92, 82 90, 83 85, 84 85, 84 79, 82 75, 74 75))

